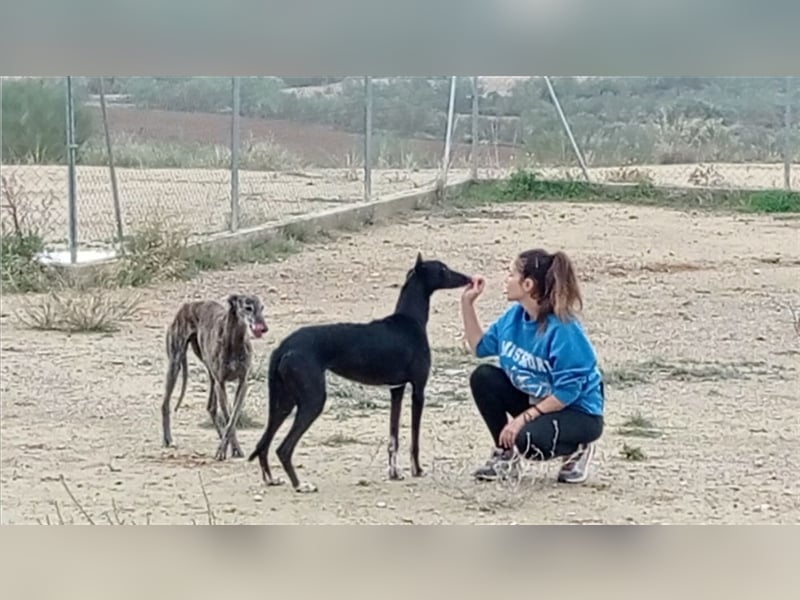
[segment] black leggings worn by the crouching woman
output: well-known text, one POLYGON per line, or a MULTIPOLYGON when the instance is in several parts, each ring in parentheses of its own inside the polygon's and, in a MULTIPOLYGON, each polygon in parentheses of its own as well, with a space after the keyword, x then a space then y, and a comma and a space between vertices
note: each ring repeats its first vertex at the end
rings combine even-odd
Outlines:
MULTIPOLYGON (((500 447, 500 432, 508 423, 507 414, 518 416, 531 406, 527 394, 511 383, 494 365, 480 365, 469 379, 472 397, 481 413, 495 447, 500 447)), ((523 425, 515 441, 526 458, 548 460, 569 456, 579 444, 594 442, 603 433, 603 417, 567 407, 539 416, 523 425)))

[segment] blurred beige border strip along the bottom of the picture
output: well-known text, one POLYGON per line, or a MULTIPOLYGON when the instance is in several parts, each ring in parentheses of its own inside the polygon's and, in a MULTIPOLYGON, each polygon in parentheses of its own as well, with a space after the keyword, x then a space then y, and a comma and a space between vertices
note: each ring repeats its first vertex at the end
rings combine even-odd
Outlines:
POLYGON ((676 587, 780 598, 800 583, 799 538, 790 526, 5 526, 0 565, 13 598, 507 589, 616 599, 676 587))

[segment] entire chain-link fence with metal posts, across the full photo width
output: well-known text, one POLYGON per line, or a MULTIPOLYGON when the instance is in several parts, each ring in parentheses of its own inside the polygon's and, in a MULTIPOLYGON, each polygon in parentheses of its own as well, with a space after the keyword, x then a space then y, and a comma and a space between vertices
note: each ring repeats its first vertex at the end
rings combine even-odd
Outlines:
POLYGON ((88 257, 152 222, 203 236, 517 168, 800 188, 792 78, 3 78, 0 96, 4 230, 88 257))

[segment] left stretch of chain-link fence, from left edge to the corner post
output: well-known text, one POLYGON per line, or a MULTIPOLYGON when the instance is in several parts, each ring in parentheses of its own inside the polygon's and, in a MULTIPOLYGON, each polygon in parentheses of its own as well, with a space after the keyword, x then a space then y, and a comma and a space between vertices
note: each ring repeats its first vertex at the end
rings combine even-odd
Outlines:
POLYGON ((153 222, 203 236, 415 189, 448 164, 451 80, 3 78, 4 227, 93 258, 153 222))

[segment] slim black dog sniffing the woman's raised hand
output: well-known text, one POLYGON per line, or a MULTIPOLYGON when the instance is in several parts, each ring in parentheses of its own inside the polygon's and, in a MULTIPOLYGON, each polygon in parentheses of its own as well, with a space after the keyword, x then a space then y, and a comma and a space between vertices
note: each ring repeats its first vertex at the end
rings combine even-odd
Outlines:
POLYGON ((292 427, 278 447, 278 458, 296 491, 316 491, 312 483, 300 484, 292 466, 292 453, 325 406, 326 370, 358 383, 391 388, 391 479, 402 479, 397 469, 398 429, 403 393, 406 384, 411 384, 411 472, 415 477, 422 475, 419 426, 431 369, 426 330, 430 298, 436 290, 464 287, 471 281, 438 260, 423 261, 422 254, 418 254, 393 314, 369 323, 311 325, 286 337, 270 356, 269 419, 264 435, 248 458, 259 458, 267 485, 283 483, 272 478, 267 452, 278 428, 297 406, 292 427))

